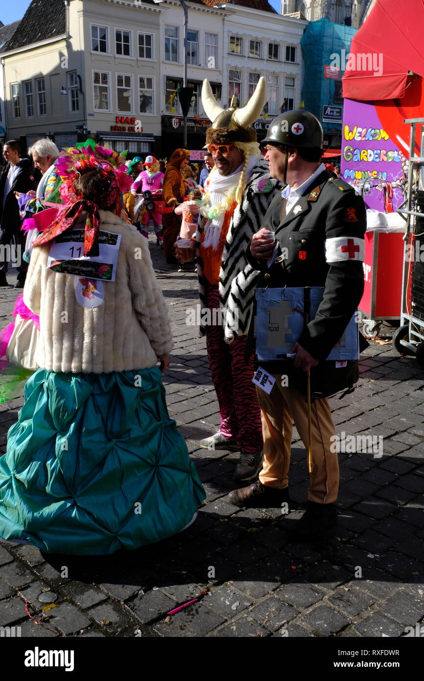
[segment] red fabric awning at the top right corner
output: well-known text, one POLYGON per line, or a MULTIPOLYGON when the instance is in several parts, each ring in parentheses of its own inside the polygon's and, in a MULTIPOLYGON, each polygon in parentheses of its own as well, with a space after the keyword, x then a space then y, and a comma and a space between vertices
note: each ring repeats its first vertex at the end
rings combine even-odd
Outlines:
POLYGON ((343 97, 402 98, 409 71, 424 77, 423 27, 424 0, 376 0, 346 54, 343 97))

